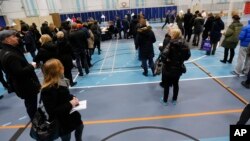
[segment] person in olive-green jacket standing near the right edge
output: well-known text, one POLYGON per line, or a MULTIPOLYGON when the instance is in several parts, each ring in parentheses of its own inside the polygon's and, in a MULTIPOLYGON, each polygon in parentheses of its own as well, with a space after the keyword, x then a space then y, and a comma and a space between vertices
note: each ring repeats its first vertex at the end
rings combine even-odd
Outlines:
POLYGON ((239 42, 239 34, 241 28, 243 27, 243 24, 240 23, 240 17, 238 15, 234 15, 232 18, 233 22, 229 25, 227 31, 224 33, 225 38, 221 44, 221 46, 225 48, 224 59, 220 60, 222 63, 232 63, 235 54, 234 50, 239 42), (227 60, 229 50, 230 57, 229 60, 227 60))

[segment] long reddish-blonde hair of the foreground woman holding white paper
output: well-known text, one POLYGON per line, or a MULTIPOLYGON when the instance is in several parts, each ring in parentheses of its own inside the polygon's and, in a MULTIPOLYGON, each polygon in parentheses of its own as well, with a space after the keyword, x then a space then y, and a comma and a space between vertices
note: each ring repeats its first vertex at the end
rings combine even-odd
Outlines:
POLYGON ((44 75, 42 89, 58 85, 59 80, 63 76, 63 69, 64 67, 58 59, 50 59, 46 61, 42 68, 44 75))

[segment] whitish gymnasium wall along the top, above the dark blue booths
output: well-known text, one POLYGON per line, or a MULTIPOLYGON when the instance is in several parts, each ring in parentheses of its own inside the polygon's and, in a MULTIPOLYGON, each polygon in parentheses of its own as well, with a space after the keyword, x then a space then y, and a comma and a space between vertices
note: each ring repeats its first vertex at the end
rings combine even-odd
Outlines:
MULTIPOLYGON (((2 14, 6 15, 9 21, 12 19, 17 18, 25 18, 25 6, 22 5, 22 0, 7 0, 3 1, 1 5, 2 14)), ((26 0, 25 0, 26 1, 26 0)), ((29 0, 27 0, 29 1, 29 0)), ((32 0, 33 1, 33 0, 32 0)), ((38 7, 38 14, 39 16, 46 16, 49 15, 50 12, 59 12, 59 13, 75 13, 75 12, 84 12, 84 11, 99 11, 99 10, 111 10, 110 8, 107 8, 107 1, 109 1, 109 4, 113 9, 119 9, 119 6, 114 6, 114 4, 119 4, 119 0, 34 0, 36 7, 38 7), (48 2, 50 1, 53 4, 48 7, 48 2), (77 2, 80 2, 80 10, 79 5, 77 5, 77 2), (85 3, 86 5, 84 5, 85 3), (113 5, 113 6, 112 6, 113 5)), ((154 7, 154 6, 163 6, 165 3, 165 0, 139 0, 139 2, 145 2, 144 7, 154 7)), ((230 1, 230 0, 228 0, 230 1)), ((233 0, 233 2, 243 2, 244 0, 233 0)), ((201 9, 207 9, 209 7, 208 4, 210 4, 210 7, 214 8, 216 6, 220 6, 217 3, 220 2, 220 0, 175 0, 175 4, 179 9, 182 9, 186 11, 187 8, 191 8, 195 4, 200 4, 201 9), (214 2, 214 5, 211 5, 212 1, 214 2)), ((225 4, 227 6, 228 4, 225 4)), ((235 5, 234 5, 235 6, 235 5)), ((136 7, 136 0, 130 0, 130 7, 135 8, 136 7)), ((227 9, 228 7, 224 7, 227 9)), ((243 6, 237 7, 239 10, 243 9, 243 6)), ((26 12, 29 11, 26 9, 26 12)))

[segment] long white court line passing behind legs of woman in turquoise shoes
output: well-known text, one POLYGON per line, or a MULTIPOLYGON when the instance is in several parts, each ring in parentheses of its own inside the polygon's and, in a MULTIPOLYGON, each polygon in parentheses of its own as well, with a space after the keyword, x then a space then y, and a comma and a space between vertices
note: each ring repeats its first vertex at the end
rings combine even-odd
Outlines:
MULTIPOLYGON (((181 79, 180 81, 195 81, 195 80, 207 80, 213 78, 230 78, 237 77, 235 75, 225 75, 225 76, 215 76, 215 77, 200 77, 200 78, 188 78, 181 79)), ((142 84, 153 84, 159 83, 160 81, 151 81, 151 82, 140 82, 140 83, 127 83, 127 84, 112 84, 112 85, 99 85, 99 86, 84 86, 84 87, 73 87, 70 89, 82 89, 82 88, 99 88, 99 87, 115 87, 115 86, 129 86, 129 85, 142 85, 142 84)))

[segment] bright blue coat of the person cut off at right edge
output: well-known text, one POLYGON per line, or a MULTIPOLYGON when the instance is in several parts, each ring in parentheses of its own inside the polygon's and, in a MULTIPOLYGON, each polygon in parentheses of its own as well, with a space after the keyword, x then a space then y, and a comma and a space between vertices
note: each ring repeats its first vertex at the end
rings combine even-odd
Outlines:
POLYGON ((241 47, 248 47, 250 43, 250 20, 248 21, 248 25, 242 28, 239 39, 241 47))

